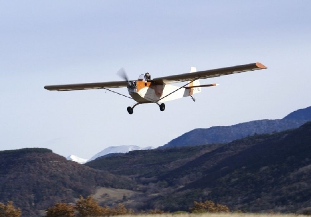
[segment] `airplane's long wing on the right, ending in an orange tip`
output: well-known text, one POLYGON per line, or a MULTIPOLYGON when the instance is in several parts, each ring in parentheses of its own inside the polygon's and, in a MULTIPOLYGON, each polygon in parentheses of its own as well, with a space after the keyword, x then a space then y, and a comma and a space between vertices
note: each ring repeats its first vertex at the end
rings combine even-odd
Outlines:
POLYGON ((259 62, 250 63, 246 65, 211 69, 200 72, 184 73, 179 75, 165 76, 153 79, 156 84, 171 84, 182 81, 193 81, 196 79, 213 78, 222 75, 230 75, 234 73, 253 71, 258 69, 266 69, 264 65, 259 62))

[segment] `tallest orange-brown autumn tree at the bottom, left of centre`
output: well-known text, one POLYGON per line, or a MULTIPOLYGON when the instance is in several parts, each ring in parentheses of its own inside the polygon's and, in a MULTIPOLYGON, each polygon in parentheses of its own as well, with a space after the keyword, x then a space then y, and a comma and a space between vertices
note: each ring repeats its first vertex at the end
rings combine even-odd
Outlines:
POLYGON ((75 209, 79 211, 80 216, 100 216, 104 215, 105 211, 91 196, 80 196, 75 209))

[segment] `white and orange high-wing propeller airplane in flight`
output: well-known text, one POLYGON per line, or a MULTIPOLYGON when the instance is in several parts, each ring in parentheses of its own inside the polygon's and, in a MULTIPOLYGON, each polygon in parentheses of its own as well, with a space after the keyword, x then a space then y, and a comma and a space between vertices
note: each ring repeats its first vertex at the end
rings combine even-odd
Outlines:
POLYGON ((134 99, 137 103, 133 106, 128 106, 127 111, 129 114, 133 113, 133 109, 139 104, 156 103, 160 107, 160 111, 165 110, 165 104, 163 102, 171 101, 174 99, 180 99, 183 97, 191 97, 193 101, 193 94, 200 93, 202 87, 212 87, 218 84, 206 84, 200 85, 200 79, 214 78, 223 75, 230 75, 240 72, 254 71, 259 69, 266 69, 263 64, 259 62, 217 68, 206 71, 197 72, 195 67, 191 67, 190 73, 164 76, 151 79, 150 74, 147 72, 145 75, 140 75, 137 80, 129 80, 124 69, 118 71, 118 75, 123 78, 123 81, 109 81, 99 83, 82 83, 82 84, 65 84, 65 85, 47 85, 44 86, 46 90, 93 90, 93 89, 105 89, 118 87, 127 87, 128 93, 131 97, 123 95, 113 90, 109 90, 118 95, 134 99), (178 82, 187 81, 185 85, 175 86, 171 85, 178 82))

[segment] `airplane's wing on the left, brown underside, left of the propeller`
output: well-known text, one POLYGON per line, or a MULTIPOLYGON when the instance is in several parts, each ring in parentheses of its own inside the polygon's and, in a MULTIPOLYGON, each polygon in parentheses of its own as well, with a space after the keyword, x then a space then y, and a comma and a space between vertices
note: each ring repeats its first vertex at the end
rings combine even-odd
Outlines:
POLYGON ((58 90, 58 91, 92 90, 92 89, 103 89, 103 88, 126 87, 127 85, 128 85, 127 81, 109 81, 109 82, 99 82, 99 83, 48 85, 48 86, 44 86, 44 89, 58 90))

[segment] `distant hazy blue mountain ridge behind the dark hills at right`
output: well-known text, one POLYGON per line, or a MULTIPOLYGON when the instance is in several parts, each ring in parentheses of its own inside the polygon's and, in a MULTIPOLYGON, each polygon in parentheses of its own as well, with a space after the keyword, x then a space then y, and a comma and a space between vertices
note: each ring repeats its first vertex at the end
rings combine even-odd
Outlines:
POLYGON ((254 134, 281 132, 283 130, 297 128, 308 121, 311 121, 311 106, 296 110, 283 119, 264 119, 239 123, 232 126, 197 128, 184 133, 159 148, 227 143, 254 134))

